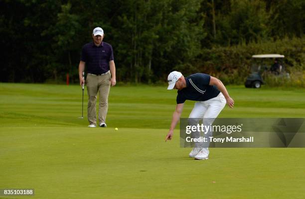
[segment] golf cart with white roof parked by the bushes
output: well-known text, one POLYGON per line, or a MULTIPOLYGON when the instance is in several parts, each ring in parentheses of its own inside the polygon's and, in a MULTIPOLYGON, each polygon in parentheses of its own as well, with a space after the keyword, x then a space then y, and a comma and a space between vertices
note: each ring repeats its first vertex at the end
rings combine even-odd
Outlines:
MULTIPOLYGON (((245 82, 246 88, 260 88, 262 84, 265 84, 262 74, 267 71, 268 75, 283 75, 283 58, 284 55, 280 54, 263 54, 252 55, 251 74, 247 77, 245 82), (275 63, 272 65, 271 59, 275 59, 275 63), (271 66, 272 65, 272 66, 271 66), (269 67, 268 67, 269 66, 269 67)), ((266 73, 265 73, 266 74, 266 73)), ((289 76, 289 74, 287 74, 289 76)), ((286 76, 287 76, 286 75, 286 76)))

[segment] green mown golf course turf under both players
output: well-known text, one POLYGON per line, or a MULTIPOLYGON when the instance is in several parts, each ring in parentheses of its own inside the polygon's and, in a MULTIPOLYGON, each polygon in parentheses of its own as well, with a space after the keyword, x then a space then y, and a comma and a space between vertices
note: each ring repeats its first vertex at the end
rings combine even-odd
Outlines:
MULTIPOLYGON (((235 107, 221 117, 305 117, 304 89, 228 91, 235 107)), ((175 96, 114 87, 108 127, 87 128, 79 86, 1 83, 0 189, 34 188, 24 199, 304 198, 305 149, 212 148, 195 161, 178 130, 165 143, 175 96)))

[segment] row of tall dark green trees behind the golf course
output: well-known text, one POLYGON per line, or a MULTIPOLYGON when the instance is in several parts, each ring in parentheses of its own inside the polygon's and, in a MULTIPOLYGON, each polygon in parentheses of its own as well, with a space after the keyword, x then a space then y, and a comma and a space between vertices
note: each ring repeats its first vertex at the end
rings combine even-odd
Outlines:
POLYGON ((0 9, 4 82, 78 80, 97 26, 114 48, 118 80, 136 83, 192 68, 207 49, 305 32, 304 0, 4 0, 0 9))

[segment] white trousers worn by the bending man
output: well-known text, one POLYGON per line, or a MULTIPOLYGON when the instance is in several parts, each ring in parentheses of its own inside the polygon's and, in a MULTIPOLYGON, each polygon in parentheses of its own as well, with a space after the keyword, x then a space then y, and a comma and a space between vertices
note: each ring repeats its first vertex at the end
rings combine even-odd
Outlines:
MULTIPOLYGON (((202 119, 203 125, 211 125, 213 124, 215 118, 219 115, 221 110, 226 105, 226 99, 222 95, 222 93, 219 93, 219 95, 215 98, 212 98, 210 100, 206 101, 198 101, 195 103, 193 110, 189 114, 188 123, 189 125, 197 125, 199 121, 202 119)), ((212 130, 206 132, 206 134, 201 134, 200 132, 193 132, 193 137, 206 137, 207 140, 209 140, 209 137, 212 136, 213 132, 212 130)), ((209 153, 209 142, 196 142, 195 147, 198 148, 204 148, 206 150, 207 154, 209 153)))

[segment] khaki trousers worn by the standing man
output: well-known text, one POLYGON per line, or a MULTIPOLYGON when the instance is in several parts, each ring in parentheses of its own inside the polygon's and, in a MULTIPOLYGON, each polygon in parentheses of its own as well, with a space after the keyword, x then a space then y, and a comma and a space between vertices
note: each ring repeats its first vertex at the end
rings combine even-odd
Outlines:
POLYGON ((96 124, 96 100, 99 93, 99 124, 106 123, 108 111, 108 96, 110 91, 110 73, 94 76, 87 75, 86 86, 88 91, 88 121, 90 124, 96 124))

